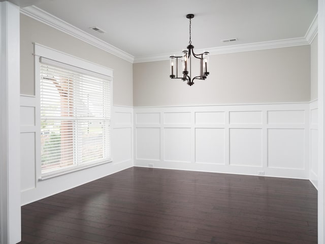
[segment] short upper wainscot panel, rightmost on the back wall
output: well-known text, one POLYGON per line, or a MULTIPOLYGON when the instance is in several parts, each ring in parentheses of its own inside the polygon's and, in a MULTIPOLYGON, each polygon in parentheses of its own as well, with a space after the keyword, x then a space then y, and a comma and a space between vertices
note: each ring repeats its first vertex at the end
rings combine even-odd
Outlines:
POLYGON ((268 111, 270 125, 303 125, 305 124, 304 110, 268 111))

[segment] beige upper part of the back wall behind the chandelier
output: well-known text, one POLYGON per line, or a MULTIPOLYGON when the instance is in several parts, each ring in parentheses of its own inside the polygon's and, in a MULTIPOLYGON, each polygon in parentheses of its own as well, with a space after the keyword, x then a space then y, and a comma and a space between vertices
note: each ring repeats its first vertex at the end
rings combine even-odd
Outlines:
POLYGON ((134 106, 310 101, 310 46, 210 56, 193 86, 169 78, 169 60, 134 64, 134 106))

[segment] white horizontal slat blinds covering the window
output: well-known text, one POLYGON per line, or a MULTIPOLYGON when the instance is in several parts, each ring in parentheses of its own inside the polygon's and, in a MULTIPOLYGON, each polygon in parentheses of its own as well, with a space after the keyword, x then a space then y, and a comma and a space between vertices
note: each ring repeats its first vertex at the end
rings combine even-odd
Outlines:
POLYGON ((40 58, 42 176, 108 162, 110 77, 40 58))

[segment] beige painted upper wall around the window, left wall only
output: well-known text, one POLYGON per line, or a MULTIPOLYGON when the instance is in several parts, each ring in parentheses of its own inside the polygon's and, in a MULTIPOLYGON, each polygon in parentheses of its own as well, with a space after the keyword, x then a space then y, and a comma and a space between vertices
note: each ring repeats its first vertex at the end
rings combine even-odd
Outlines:
POLYGON ((20 14, 20 93, 34 95, 34 45, 44 46, 113 69, 113 104, 133 106, 133 65, 46 24, 20 14))

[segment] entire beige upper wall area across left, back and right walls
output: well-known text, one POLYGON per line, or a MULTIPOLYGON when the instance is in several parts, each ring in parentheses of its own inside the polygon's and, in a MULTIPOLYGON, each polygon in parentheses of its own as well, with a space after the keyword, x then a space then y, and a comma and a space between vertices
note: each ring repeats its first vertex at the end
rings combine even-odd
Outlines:
POLYGON ((131 64, 20 15, 21 94, 34 95, 36 42, 114 70, 114 105, 177 106, 308 102, 317 98, 317 38, 311 46, 210 56, 210 75, 191 87, 169 78, 169 61, 131 64), (310 82, 311 80, 311 82, 310 82))

